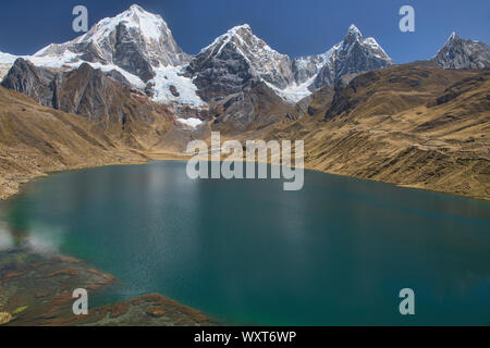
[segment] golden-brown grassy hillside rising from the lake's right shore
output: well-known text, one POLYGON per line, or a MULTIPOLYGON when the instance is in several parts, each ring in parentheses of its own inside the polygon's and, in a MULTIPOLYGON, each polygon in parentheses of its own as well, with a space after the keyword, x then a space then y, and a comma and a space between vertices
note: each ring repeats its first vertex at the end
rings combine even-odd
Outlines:
POLYGON ((387 67, 259 137, 304 139, 308 169, 490 200, 489 90, 488 72, 387 67))

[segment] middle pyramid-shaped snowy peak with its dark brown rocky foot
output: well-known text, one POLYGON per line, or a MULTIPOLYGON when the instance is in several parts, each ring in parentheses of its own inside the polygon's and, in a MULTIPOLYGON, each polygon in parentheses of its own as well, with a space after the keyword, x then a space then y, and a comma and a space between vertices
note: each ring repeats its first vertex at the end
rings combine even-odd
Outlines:
POLYGON ((208 102, 215 128, 243 132, 294 109, 274 91, 294 82, 289 57, 254 36, 248 25, 218 37, 191 60, 185 73, 208 102))

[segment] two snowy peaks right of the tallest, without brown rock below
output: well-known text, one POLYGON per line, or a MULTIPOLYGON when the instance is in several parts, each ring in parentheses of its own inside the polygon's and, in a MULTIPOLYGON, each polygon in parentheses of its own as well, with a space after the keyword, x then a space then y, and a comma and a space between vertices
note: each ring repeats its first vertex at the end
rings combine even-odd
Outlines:
POLYGON ((373 38, 363 38, 351 25, 345 38, 323 54, 290 58, 236 26, 218 37, 186 67, 204 98, 237 92, 252 78, 265 82, 279 96, 296 102, 342 76, 393 64, 373 38))

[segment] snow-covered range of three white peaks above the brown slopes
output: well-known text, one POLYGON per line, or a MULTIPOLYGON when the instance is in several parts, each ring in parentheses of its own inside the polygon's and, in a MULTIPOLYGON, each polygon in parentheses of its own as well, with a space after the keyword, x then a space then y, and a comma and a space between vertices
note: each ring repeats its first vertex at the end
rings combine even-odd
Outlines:
MULTIPOLYGON (((0 54, 0 77, 15 59, 0 54)), ((293 62, 255 36, 247 24, 228 30, 189 57, 176 45, 163 18, 139 5, 99 21, 71 41, 51 44, 23 59, 60 73, 88 63, 145 91, 154 101, 199 108, 206 105, 204 100, 241 92, 252 80, 266 84, 289 102, 297 102, 346 74, 392 64, 376 40, 363 39, 354 25, 344 40, 326 53, 293 62)))

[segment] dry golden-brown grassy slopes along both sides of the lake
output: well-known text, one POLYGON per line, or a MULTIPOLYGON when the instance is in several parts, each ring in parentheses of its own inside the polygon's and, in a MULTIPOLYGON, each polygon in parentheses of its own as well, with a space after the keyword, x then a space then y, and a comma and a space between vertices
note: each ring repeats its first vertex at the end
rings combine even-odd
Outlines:
MULTIPOLYGON (((392 66, 359 75, 334 97, 331 88, 314 94, 296 108, 299 120, 259 122, 240 134, 218 129, 222 141, 303 139, 307 169, 490 200, 489 75, 392 66)), ((0 88, 0 197, 52 171, 186 160, 189 139, 209 140, 212 123, 193 134, 174 127, 167 108, 128 98, 131 122, 120 129, 0 88)), ((280 107, 257 110, 291 108, 280 107)))

